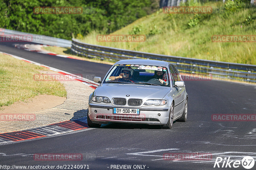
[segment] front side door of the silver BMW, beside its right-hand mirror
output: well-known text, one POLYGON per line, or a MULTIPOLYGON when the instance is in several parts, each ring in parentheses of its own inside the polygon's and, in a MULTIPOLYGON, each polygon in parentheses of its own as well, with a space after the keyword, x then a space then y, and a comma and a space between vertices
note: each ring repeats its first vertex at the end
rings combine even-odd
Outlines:
POLYGON ((171 72, 171 78, 172 78, 172 89, 174 90, 174 94, 172 98, 174 99, 174 119, 180 115, 180 112, 182 111, 182 96, 181 96, 181 90, 179 90, 178 87, 174 87, 175 81, 179 81, 177 74, 174 71, 174 68, 172 65, 169 66, 170 72, 171 72))

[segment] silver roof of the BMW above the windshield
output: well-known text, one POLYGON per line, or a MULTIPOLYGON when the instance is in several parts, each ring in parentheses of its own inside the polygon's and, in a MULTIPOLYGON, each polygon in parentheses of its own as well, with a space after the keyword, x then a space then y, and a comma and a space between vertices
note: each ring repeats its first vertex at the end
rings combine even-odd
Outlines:
POLYGON ((138 64, 138 65, 156 65, 156 66, 166 66, 170 63, 167 61, 159 60, 145 60, 145 59, 131 59, 131 60, 120 60, 116 64, 138 64))

